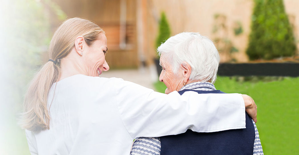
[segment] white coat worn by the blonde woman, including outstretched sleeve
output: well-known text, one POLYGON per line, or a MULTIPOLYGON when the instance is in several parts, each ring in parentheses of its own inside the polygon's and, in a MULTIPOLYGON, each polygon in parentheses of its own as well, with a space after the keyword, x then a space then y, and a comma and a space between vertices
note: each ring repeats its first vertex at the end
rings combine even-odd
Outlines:
POLYGON ((50 130, 26 130, 31 154, 121 155, 130 153, 136 137, 174 135, 188 128, 245 128, 240 94, 167 95, 118 78, 62 79, 50 89, 50 104, 50 130))

